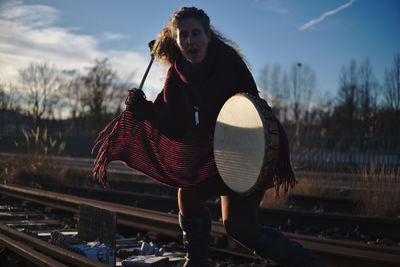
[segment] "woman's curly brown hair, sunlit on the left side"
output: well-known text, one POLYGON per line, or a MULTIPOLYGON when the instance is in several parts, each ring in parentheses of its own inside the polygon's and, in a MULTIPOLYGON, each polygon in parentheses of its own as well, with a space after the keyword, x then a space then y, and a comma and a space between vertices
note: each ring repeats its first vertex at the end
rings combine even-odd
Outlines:
POLYGON ((168 21, 167 26, 158 34, 157 40, 151 51, 151 55, 161 63, 173 65, 177 56, 180 54, 179 48, 176 44, 176 29, 179 24, 185 19, 195 18, 202 25, 205 32, 210 32, 211 40, 224 42, 236 51, 241 56, 239 47, 231 40, 223 37, 215 28, 210 24, 210 18, 202 10, 196 7, 181 7, 175 11, 168 21))

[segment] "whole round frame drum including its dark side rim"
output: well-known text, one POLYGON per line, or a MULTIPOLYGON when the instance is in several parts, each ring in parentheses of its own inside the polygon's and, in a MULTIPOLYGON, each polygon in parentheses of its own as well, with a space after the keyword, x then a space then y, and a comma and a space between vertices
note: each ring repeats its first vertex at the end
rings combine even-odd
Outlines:
POLYGON ((215 163, 225 184, 240 194, 272 186, 278 151, 278 125, 267 102, 244 93, 229 98, 214 133, 215 163))

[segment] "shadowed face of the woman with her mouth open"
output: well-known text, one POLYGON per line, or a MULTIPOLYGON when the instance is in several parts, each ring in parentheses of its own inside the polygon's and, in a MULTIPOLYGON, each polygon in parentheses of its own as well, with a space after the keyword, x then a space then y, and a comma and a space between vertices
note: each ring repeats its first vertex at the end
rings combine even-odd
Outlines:
POLYGON ((179 23, 176 29, 176 43, 182 55, 192 64, 203 61, 207 53, 210 33, 195 18, 188 18, 179 23))

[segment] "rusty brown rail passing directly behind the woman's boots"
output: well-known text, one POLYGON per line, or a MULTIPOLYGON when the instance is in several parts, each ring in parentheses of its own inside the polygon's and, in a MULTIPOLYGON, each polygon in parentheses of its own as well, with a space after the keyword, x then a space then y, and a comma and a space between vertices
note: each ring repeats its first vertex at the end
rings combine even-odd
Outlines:
MULTIPOLYGON (((84 203, 115 212, 117 214, 118 225, 142 229, 144 231, 162 232, 163 235, 177 239, 181 237, 177 215, 172 213, 145 210, 118 203, 9 185, 1 185, 0 194, 71 213, 77 213, 79 205, 84 203)), ((3 233, 3 230, 1 232, 3 235, 7 235, 3 233)), ((249 251, 235 245, 230 240, 221 222, 213 221, 211 235, 214 250, 230 250, 237 255, 254 257, 249 251)), ((330 266, 400 265, 400 249, 397 247, 369 246, 360 242, 329 240, 293 233, 287 233, 287 235, 301 243, 304 247, 319 254, 330 266)), ((8 234, 8 237, 10 236, 11 234, 8 234)))

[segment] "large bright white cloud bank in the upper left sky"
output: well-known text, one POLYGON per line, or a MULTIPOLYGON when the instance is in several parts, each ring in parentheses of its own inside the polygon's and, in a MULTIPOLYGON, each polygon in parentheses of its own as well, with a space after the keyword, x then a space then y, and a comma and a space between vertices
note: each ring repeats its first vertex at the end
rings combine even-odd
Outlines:
MULTIPOLYGON (((57 27, 60 11, 45 5, 25 5, 23 1, 9 1, 0 5, 0 81, 17 83, 20 69, 31 62, 48 62, 60 70, 76 69, 84 72, 95 59, 108 58, 122 78, 133 76, 139 84, 149 55, 129 50, 102 50, 101 42, 127 38, 119 33, 103 33, 102 37, 78 34, 76 29, 57 27)), ((162 70, 152 69, 145 87, 162 87, 162 70)))

